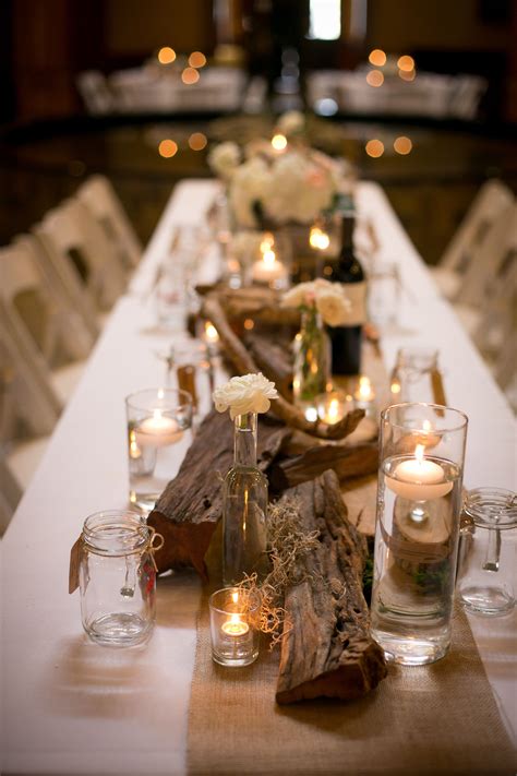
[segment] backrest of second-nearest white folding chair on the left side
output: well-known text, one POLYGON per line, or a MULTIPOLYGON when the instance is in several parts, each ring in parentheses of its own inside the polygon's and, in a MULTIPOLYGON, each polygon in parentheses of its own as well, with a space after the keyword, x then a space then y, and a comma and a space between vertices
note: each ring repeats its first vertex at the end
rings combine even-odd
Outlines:
POLYGON ((45 274, 40 252, 29 236, 0 249, 0 296, 13 325, 25 331, 47 366, 53 368, 86 358, 95 337, 64 287, 52 284, 45 274))

